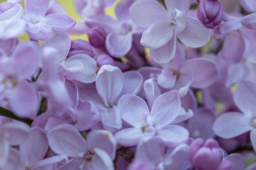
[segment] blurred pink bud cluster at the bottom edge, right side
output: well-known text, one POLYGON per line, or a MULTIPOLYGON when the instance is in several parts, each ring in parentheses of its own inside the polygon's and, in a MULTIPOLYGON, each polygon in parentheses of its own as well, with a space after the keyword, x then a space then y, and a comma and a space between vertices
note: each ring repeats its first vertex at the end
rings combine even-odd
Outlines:
POLYGON ((223 153, 215 139, 196 139, 190 145, 189 159, 198 170, 231 170, 231 163, 223 160, 223 153))

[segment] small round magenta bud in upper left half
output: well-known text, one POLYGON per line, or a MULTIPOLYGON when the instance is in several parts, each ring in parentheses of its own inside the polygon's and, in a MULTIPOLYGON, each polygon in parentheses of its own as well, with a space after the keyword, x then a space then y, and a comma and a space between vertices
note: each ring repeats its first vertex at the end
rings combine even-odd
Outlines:
POLYGON ((96 48, 105 46, 105 40, 107 33, 102 27, 96 26, 90 31, 88 31, 88 38, 90 44, 96 48))

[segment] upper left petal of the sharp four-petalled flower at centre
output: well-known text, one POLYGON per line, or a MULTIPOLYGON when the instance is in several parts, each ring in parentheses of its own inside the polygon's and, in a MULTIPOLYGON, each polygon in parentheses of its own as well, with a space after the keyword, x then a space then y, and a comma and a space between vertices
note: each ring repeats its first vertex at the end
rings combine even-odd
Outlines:
POLYGON ((149 114, 146 102, 135 95, 124 95, 119 99, 118 110, 121 118, 131 126, 145 126, 144 117, 149 114))

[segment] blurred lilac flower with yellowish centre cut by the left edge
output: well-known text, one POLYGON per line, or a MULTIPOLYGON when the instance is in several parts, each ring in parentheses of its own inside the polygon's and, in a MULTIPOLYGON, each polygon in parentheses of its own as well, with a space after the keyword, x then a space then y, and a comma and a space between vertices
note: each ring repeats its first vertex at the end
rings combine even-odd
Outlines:
POLYGON ((38 71, 41 61, 36 42, 21 42, 12 55, 0 58, 0 99, 6 97, 14 113, 35 118, 38 110, 38 94, 26 79, 38 71))

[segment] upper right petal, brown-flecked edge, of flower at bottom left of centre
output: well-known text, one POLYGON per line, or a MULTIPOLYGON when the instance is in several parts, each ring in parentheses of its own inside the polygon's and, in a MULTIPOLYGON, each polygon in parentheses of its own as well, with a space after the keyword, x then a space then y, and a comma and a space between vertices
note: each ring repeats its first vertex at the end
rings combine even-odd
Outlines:
POLYGON ((117 141, 112 133, 106 130, 93 130, 87 137, 88 148, 99 148, 108 153, 112 160, 115 159, 117 141))

